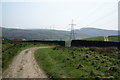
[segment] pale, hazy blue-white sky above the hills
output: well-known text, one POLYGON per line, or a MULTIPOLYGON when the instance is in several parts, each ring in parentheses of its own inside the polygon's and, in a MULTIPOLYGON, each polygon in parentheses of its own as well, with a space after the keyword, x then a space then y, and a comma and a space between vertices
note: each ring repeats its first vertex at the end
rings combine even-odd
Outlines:
POLYGON ((94 27, 118 29, 119 0, 2 0, 2 27, 70 30, 94 27))

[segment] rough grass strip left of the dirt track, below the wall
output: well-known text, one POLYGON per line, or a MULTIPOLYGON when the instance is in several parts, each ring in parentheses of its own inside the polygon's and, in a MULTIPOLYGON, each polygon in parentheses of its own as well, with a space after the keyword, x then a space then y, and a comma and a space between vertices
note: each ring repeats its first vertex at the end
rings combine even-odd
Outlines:
MULTIPOLYGON (((11 64, 14 56, 20 53, 22 50, 30 47, 48 46, 48 44, 41 43, 22 43, 22 42, 12 42, 3 41, 2 42, 2 70, 5 71, 11 64)), ((50 45, 54 46, 54 45, 50 45)))

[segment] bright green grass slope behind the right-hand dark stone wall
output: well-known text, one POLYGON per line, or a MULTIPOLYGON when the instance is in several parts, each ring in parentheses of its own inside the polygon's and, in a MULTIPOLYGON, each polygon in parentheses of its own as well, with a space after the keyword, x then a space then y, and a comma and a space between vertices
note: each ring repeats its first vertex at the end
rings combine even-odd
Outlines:
MULTIPOLYGON (((119 38, 120 38, 120 35, 108 36, 109 41, 112 41, 112 42, 120 42, 119 38)), ((81 40, 104 41, 104 37, 98 36, 98 37, 85 38, 81 40)))

